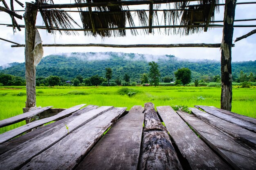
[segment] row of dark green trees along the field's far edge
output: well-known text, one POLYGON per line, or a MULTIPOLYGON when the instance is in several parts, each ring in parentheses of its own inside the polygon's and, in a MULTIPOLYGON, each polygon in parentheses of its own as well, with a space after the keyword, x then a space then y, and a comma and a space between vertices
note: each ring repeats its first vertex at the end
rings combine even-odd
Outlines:
MULTIPOLYGON (((82 75, 77 75, 74 79, 69 80, 62 76, 50 75, 48 77, 37 77, 36 86, 135 86, 138 84, 151 84, 153 86, 158 86, 159 82, 171 83, 175 85, 189 84, 192 79, 193 72, 189 68, 178 68, 174 72, 175 77, 164 76, 161 77, 159 71, 159 65, 156 62, 149 62, 148 66, 149 72, 142 73, 140 79, 137 81, 130 81, 130 75, 125 73, 122 77, 113 78, 112 68, 105 68, 105 77, 101 77, 98 74, 92 75, 91 77, 84 78, 82 75), (175 82, 174 82, 175 81, 175 82)), ((234 80, 233 80, 234 81, 234 80)), ((194 84, 198 86, 199 83, 204 82, 221 82, 220 75, 215 76, 204 76, 200 79, 195 79, 194 84)), ((253 75, 251 72, 248 76, 243 71, 240 71, 239 77, 235 79, 234 82, 256 82, 256 74, 253 75)), ((0 86, 24 86, 26 85, 25 79, 18 76, 13 76, 9 74, 0 74, 0 86)))

